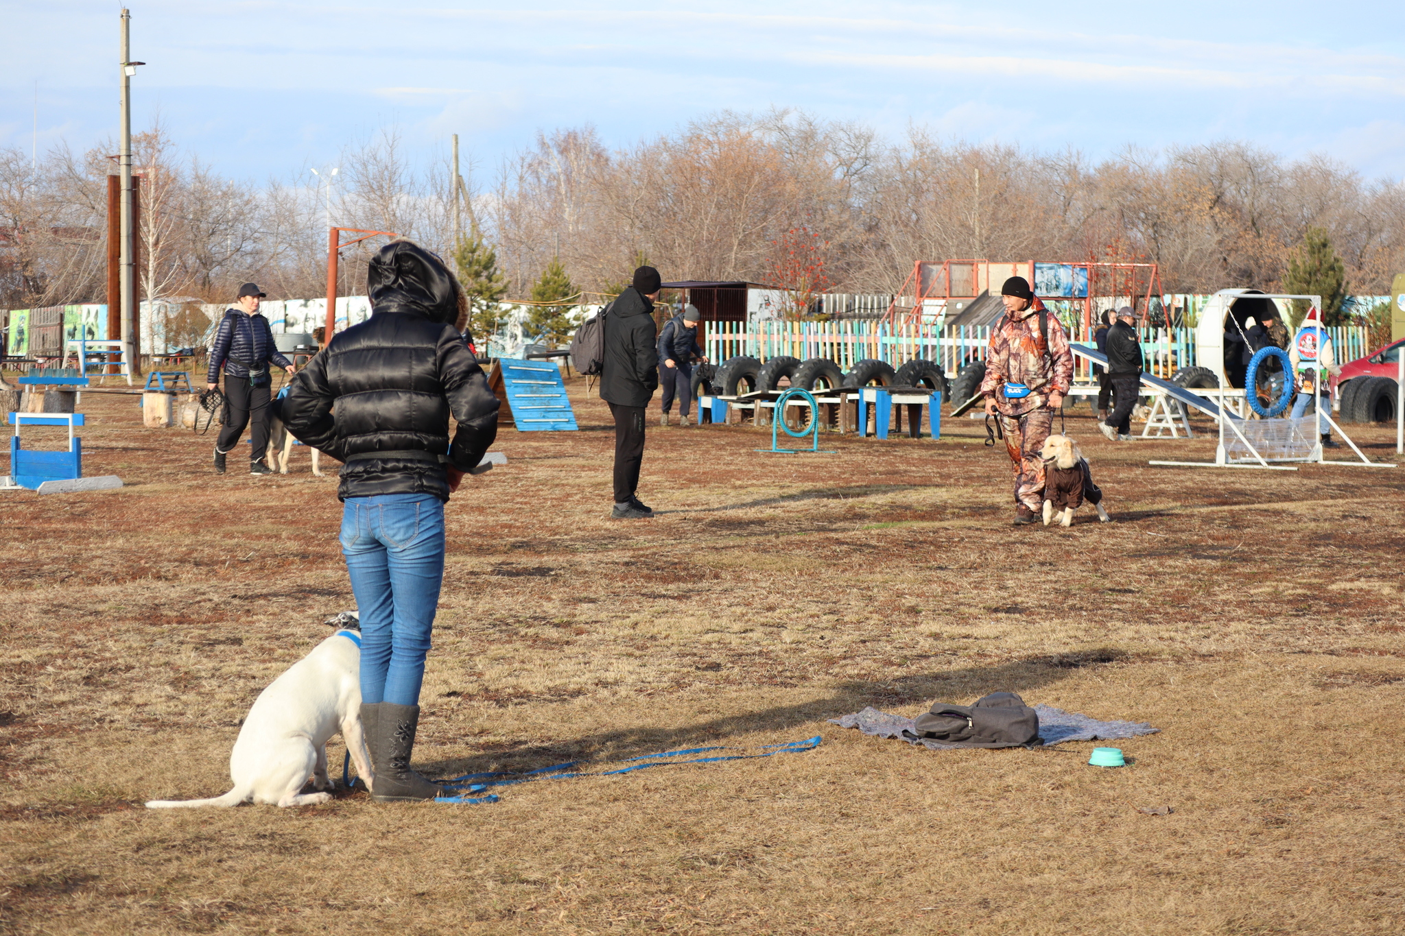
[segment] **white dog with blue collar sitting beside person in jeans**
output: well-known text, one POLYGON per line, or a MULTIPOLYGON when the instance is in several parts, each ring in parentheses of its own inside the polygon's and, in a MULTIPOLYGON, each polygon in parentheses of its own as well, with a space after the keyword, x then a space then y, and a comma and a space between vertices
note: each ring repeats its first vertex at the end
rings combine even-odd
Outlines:
MULTIPOLYGON (((343 615, 343 620, 348 617, 343 615)), ((327 740, 341 733, 357 773, 374 789, 361 734, 361 634, 339 630, 259 693, 229 755, 235 789, 209 800, 152 800, 149 808, 274 803, 313 805, 330 793, 302 793, 308 777, 327 790, 327 740)))

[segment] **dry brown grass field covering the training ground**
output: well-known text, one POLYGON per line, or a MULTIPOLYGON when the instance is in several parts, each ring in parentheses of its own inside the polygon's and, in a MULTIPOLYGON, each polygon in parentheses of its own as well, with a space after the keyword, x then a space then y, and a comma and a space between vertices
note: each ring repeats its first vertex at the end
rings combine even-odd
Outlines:
POLYGON ((1113 445, 1079 408, 1117 522, 1016 529, 979 421, 788 456, 651 425, 659 516, 611 522, 607 413, 573 394, 580 432, 504 428, 448 507, 416 765, 818 749, 492 805, 145 810, 229 789, 257 693, 353 605, 340 507, 305 449, 216 477, 214 435, 89 394, 86 473, 126 487, 0 495, 0 932, 1405 930, 1405 472, 1148 467, 1213 441, 1113 445), (826 723, 1000 689, 1161 733, 1107 770, 826 723))

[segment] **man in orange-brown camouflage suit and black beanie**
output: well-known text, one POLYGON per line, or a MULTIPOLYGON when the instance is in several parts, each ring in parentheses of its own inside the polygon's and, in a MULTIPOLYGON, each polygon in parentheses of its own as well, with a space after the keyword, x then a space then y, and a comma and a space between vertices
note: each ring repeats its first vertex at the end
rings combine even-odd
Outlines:
POLYGON ((1044 508, 1040 450, 1054 425, 1054 410, 1064 406, 1073 382, 1073 352, 1064 326, 1045 312, 1024 276, 1006 279, 1000 299, 1005 316, 991 330, 981 396, 986 414, 996 415, 1005 431, 1005 448, 1014 463, 1014 525, 1023 526, 1044 508), (1009 397, 1006 385, 1024 385, 1028 396, 1009 397))

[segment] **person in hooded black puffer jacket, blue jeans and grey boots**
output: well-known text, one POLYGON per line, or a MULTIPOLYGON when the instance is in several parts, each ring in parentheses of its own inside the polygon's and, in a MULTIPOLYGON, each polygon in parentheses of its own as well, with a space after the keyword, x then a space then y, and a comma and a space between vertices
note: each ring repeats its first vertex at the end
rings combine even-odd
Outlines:
POLYGON ((340 539, 361 615, 371 797, 431 800, 444 789, 410 769, 410 754, 444 581, 444 504, 496 438, 497 399, 458 330, 466 297, 437 255, 391 241, 371 260, 367 295, 371 319, 333 337, 280 410, 295 438, 346 463, 340 539))

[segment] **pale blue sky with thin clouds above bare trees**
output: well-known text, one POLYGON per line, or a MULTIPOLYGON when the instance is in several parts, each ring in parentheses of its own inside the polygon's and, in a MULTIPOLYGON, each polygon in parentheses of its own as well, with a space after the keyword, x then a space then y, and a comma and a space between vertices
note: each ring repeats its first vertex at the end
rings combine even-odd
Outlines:
MULTIPOLYGON (((0 145, 117 135, 118 3, 0 0, 0 145)), ((1246 139, 1405 178, 1405 3, 296 3, 131 0, 133 126, 292 180, 395 125, 486 181, 542 129, 625 146, 708 112, 805 108, 1027 149, 1246 139)))

